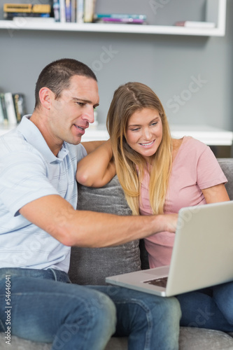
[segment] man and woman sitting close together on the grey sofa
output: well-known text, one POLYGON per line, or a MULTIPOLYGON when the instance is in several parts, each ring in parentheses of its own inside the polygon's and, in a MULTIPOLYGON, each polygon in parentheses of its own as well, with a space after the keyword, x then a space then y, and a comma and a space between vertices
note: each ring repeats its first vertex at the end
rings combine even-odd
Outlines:
POLYGON ((52 350, 64 330, 64 350, 102 350, 111 335, 128 336, 131 350, 176 350, 180 325, 195 321, 200 306, 213 315, 205 328, 233 331, 233 283, 177 297, 121 287, 111 295, 107 286, 71 284, 67 274, 71 246, 141 238, 150 267, 169 265, 178 210, 229 200, 211 149, 171 139, 160 99, 142 83, 115 90, 108 141, 80 144, 99 93, 92 70, 75 59, 45 66, 35 97, 34 112, 0 137, 0 331, 6 276, 11 334, 52 342, 52 350), (133 216, 76 210, 76 180, 101 187, 115 174, 133 216))

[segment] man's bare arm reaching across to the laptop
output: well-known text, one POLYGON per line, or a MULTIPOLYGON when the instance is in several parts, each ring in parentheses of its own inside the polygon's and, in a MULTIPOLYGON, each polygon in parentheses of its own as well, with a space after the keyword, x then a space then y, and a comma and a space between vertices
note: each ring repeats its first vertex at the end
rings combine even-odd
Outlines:
POLYGON ((175 232, 177 214, 117 216, 78 211, 59 195, 24 205, 20 214, 66 246, 103 247, 124 244, 157 232, 175 232))

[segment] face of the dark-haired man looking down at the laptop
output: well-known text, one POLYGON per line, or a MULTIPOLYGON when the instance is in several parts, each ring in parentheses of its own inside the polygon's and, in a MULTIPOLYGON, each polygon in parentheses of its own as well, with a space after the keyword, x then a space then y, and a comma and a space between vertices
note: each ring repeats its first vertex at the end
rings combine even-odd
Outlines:
POLYGON ((89 123, 94 122, 94 108, 99 105, 97 81, 73 76, 70 83, 59 99, 52 99, 50 108, 49 132, 57 146, 63 141, 79 144, 89 123))

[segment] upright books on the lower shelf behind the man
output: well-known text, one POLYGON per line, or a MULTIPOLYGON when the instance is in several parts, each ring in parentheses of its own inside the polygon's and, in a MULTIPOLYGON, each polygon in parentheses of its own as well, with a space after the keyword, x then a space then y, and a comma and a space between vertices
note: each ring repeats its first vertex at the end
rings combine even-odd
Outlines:
POLYGON ((16 125, 26 113, 24 94, 0 93, 0 125, 16 125))

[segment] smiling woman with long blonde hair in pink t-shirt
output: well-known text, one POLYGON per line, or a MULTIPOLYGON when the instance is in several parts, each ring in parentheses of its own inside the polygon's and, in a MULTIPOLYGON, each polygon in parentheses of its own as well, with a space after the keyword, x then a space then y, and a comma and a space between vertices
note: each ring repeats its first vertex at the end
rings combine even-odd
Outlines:
MULTIPOLYGON (((78 163, 77 181, 101 187, 118 174, 132 214, 178 213, 229 200, 227 179, 211 149, 192 137, 171 139, 163 106, 150 87, 115 90, 107 116, 110 140, 78 163)), ((174 234, 145 239, 150 267, 169 265, 174 234)), ((178 295, 181 325, 233 331, 233 283, 178 295)))

